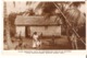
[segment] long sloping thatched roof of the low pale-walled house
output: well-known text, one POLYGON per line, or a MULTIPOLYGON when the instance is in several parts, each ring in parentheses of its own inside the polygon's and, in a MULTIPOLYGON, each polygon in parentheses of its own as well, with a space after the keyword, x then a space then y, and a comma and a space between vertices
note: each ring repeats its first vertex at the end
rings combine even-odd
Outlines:
POLYGON ((55 21, 57 16, 51 16, 49 20, 45 20, 44 16, 23 16, 18 15, 15 19, 15 25, 30 25, 30 26, 51 26, 51 25, 60 25, 58 18, 58 21, 55 21))

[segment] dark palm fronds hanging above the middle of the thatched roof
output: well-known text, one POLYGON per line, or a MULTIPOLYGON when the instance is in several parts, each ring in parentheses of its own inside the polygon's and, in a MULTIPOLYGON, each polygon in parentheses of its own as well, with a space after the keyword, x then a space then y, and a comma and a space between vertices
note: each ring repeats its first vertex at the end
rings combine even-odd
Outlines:
MULTIPOLYGON (((60 2, 58 2, 60 3, 60 2)), ((60 8, 61 10, 63 10, 63 2, 60 3, 60 8)), ((53 4, 53 2, 39 2, 39 4, 37 5, 37 9, 41 9, 42 10, 42 15, 45 15, 45 19, 49 19, 51 15, 54 14, 57 7, 53 4)))

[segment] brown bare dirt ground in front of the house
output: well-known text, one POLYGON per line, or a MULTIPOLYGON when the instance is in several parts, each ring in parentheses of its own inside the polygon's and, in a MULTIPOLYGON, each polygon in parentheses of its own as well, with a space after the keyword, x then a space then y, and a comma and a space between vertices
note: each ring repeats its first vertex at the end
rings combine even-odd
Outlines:
MULTIPOLYGON (((12 43, 13 49, 73 49, 72 46, 69 44, 69 40, 66 36, 62 37, 55 37, 53 40, 50 38, 40 38, 41 45, 40 47, 33 48, 33 39, 32 38, 23 38, 23 46, 20 47, 18 45, 18 39, 13 38, 14 42, 12 43), (53 42, 53 43, 52 43, 53 42)), ((3 44, 3 48, 8 50, 8 45, 3 44)), ((85 45, 78 40, 77 42, 78 49, 86 49, 85 45)))

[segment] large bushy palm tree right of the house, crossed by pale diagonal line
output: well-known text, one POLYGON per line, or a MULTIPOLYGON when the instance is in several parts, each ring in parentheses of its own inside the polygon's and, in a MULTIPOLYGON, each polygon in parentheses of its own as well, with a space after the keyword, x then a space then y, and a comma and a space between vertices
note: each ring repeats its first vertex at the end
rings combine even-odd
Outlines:
MULTIPOLYGON (((82 28, 80 25, 85 24, 85 15, 84 13, 82 13, 77 8, 80 7, 82 2, 73 2, 71 5, 73 7, 72 9, 69 9, 64 12, 61 12, 62 15, 65 19, 66 22, 66 34, 67 34, 67 39, 70 40, 70 27, 73 32, 74 38, 78 38, 84 45, 85 42, 83 42, 83 39, 80 38, 80 36, 78 35, 77 31, 78 28, 82 28)), ((71 7, 70 5, 70 7, 71 7)), ((64 21, 64 20, 63 20, 64 21)), ((70 44, 72 42, 70 40, 70 44)), ((75 46, 77 48, 77 43, 75 43, 75 46)))

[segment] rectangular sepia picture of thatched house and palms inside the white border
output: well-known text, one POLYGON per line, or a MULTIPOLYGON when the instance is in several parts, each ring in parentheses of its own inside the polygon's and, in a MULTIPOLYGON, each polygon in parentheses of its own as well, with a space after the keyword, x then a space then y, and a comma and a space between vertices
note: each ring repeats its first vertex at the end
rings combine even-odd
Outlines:
POLYGON ((85 1, 3 1, 3 50, 86 49, 85 1))

